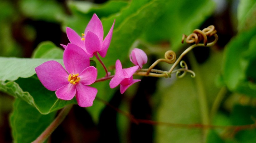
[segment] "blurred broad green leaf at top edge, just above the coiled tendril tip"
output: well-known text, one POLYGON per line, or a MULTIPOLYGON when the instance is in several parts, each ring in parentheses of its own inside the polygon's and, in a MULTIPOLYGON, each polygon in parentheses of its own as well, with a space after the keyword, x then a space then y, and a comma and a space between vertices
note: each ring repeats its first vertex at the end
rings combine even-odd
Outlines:
POLYGON ((213 1, 172 0, 160 9, 164 14, 145 32, 150 42, 170 42, 171 49, 178 51, 182 46, 182 34, 189 35, 214 12, 213 1))

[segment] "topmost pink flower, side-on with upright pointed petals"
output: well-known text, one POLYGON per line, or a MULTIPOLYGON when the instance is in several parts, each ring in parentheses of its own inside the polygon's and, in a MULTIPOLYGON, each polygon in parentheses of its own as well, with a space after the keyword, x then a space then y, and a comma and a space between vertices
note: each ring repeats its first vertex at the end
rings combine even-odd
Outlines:
MULTIPOLYGON (((69 41, 85 50, 90 58, 93 57, 96 52, 98 52, 102 57, 105 57, 111 42, 114 24, 115 21, 104 40, 103 26, 101 20, 96 14, 93 14, 84 34, 81 35, 82 37, 69 27, 66 28, 66 33, 69 41)), ((66 48, 65 45, 62 46, 66 48)))

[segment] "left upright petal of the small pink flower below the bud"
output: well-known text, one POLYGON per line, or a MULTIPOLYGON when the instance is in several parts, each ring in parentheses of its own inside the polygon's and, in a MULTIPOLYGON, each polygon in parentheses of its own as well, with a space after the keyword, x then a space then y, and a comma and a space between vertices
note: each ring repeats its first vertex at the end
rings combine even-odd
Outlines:
POLYGON ((122 64, 121 64, 120 60, 116 60, 116 74, 115 74, 114 78, 112 78, 109 83, 110 88, 117 87, 124 79, 125 79, 125 77, 123 74, 122 64))

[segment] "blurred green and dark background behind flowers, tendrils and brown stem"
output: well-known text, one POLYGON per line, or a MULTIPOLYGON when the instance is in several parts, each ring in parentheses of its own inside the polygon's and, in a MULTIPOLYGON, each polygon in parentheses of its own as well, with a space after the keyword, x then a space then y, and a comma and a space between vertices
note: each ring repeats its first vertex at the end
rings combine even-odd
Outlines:
MULTIPOLYGON (((30 57, 61 59, 60 44, 69 42, 66 26, 83 33, 94 13, 102 21, 105 36, 116 19, 111 45, 107 56, 102 58, 112 74, 117 59, 124 68, 132 66, 129 54, 135 47, 147 53, 149 61, 144 65, 147 68, 163 58, 167 50, 179 56, 190 46, 181 44, 182 34, 189 35, 194 29, 214 25, 219 40, 213 47, 196 47, 183 58, 194 70, 195 78, 189 74, 181 79, 175 75, 168 79, 134 77, 142 81, 123 95, 118 88, 110 89, 109 81, 94 84, 99 91, 94 105, 86 109, 74 105, 48 142, 256 142, 255 126, 245 130, 232 128, 255 124, 254 0, 0 0, 1 143, 33 141, 53 120, 57 109, 76 103, 53 105, 54 92, 47 92, 35 76, 22 78, 20 67, 25 72, 33 69, 17 63, 30 57), (8 57, 20 59, 15 61, 8 57), (11 63, 17 69, 9 66, 11 63), (18 79, 12 82, 5 78, 8 74, 18 79), (11 83, 7 84, 8 81, 11 83), (9 85, 14 88, 15 83, 17 91, 21 92, 18 95, 15 90, 7 90, 9 85), (29 101, 22 98, 23 91, 31 94, 32 104, 28 105, 29 101), (49 102, 44 101, 43 94, 50 96, 49 102), (227 127, 136 124, 113 107, 135 118, 159 123, 227 127)), ((29 64, 35 65, 34 62, 29 64)), ((97 68, 98 77, 103 77, 104 70, 100 65, 97 68)), ((156 68, 169 70, 170 65, 164 63, 156 68)))

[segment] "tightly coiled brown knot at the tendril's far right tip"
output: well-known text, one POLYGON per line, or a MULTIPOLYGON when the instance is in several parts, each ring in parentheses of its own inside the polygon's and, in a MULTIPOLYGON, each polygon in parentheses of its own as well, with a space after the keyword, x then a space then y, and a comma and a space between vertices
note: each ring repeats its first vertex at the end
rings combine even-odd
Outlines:
POLYGON ((217 31, 213 25, 204 28, 203 30, 195 29, 192 34, 189 36, 183 34, 181 43, 184 43, 184 39, 186 38, 185 42, 188 44, 195 43, 198 44, 200 41, 203 40, 204 46, 207 45, 207 37, 211 37, 216 34, 217 31))

